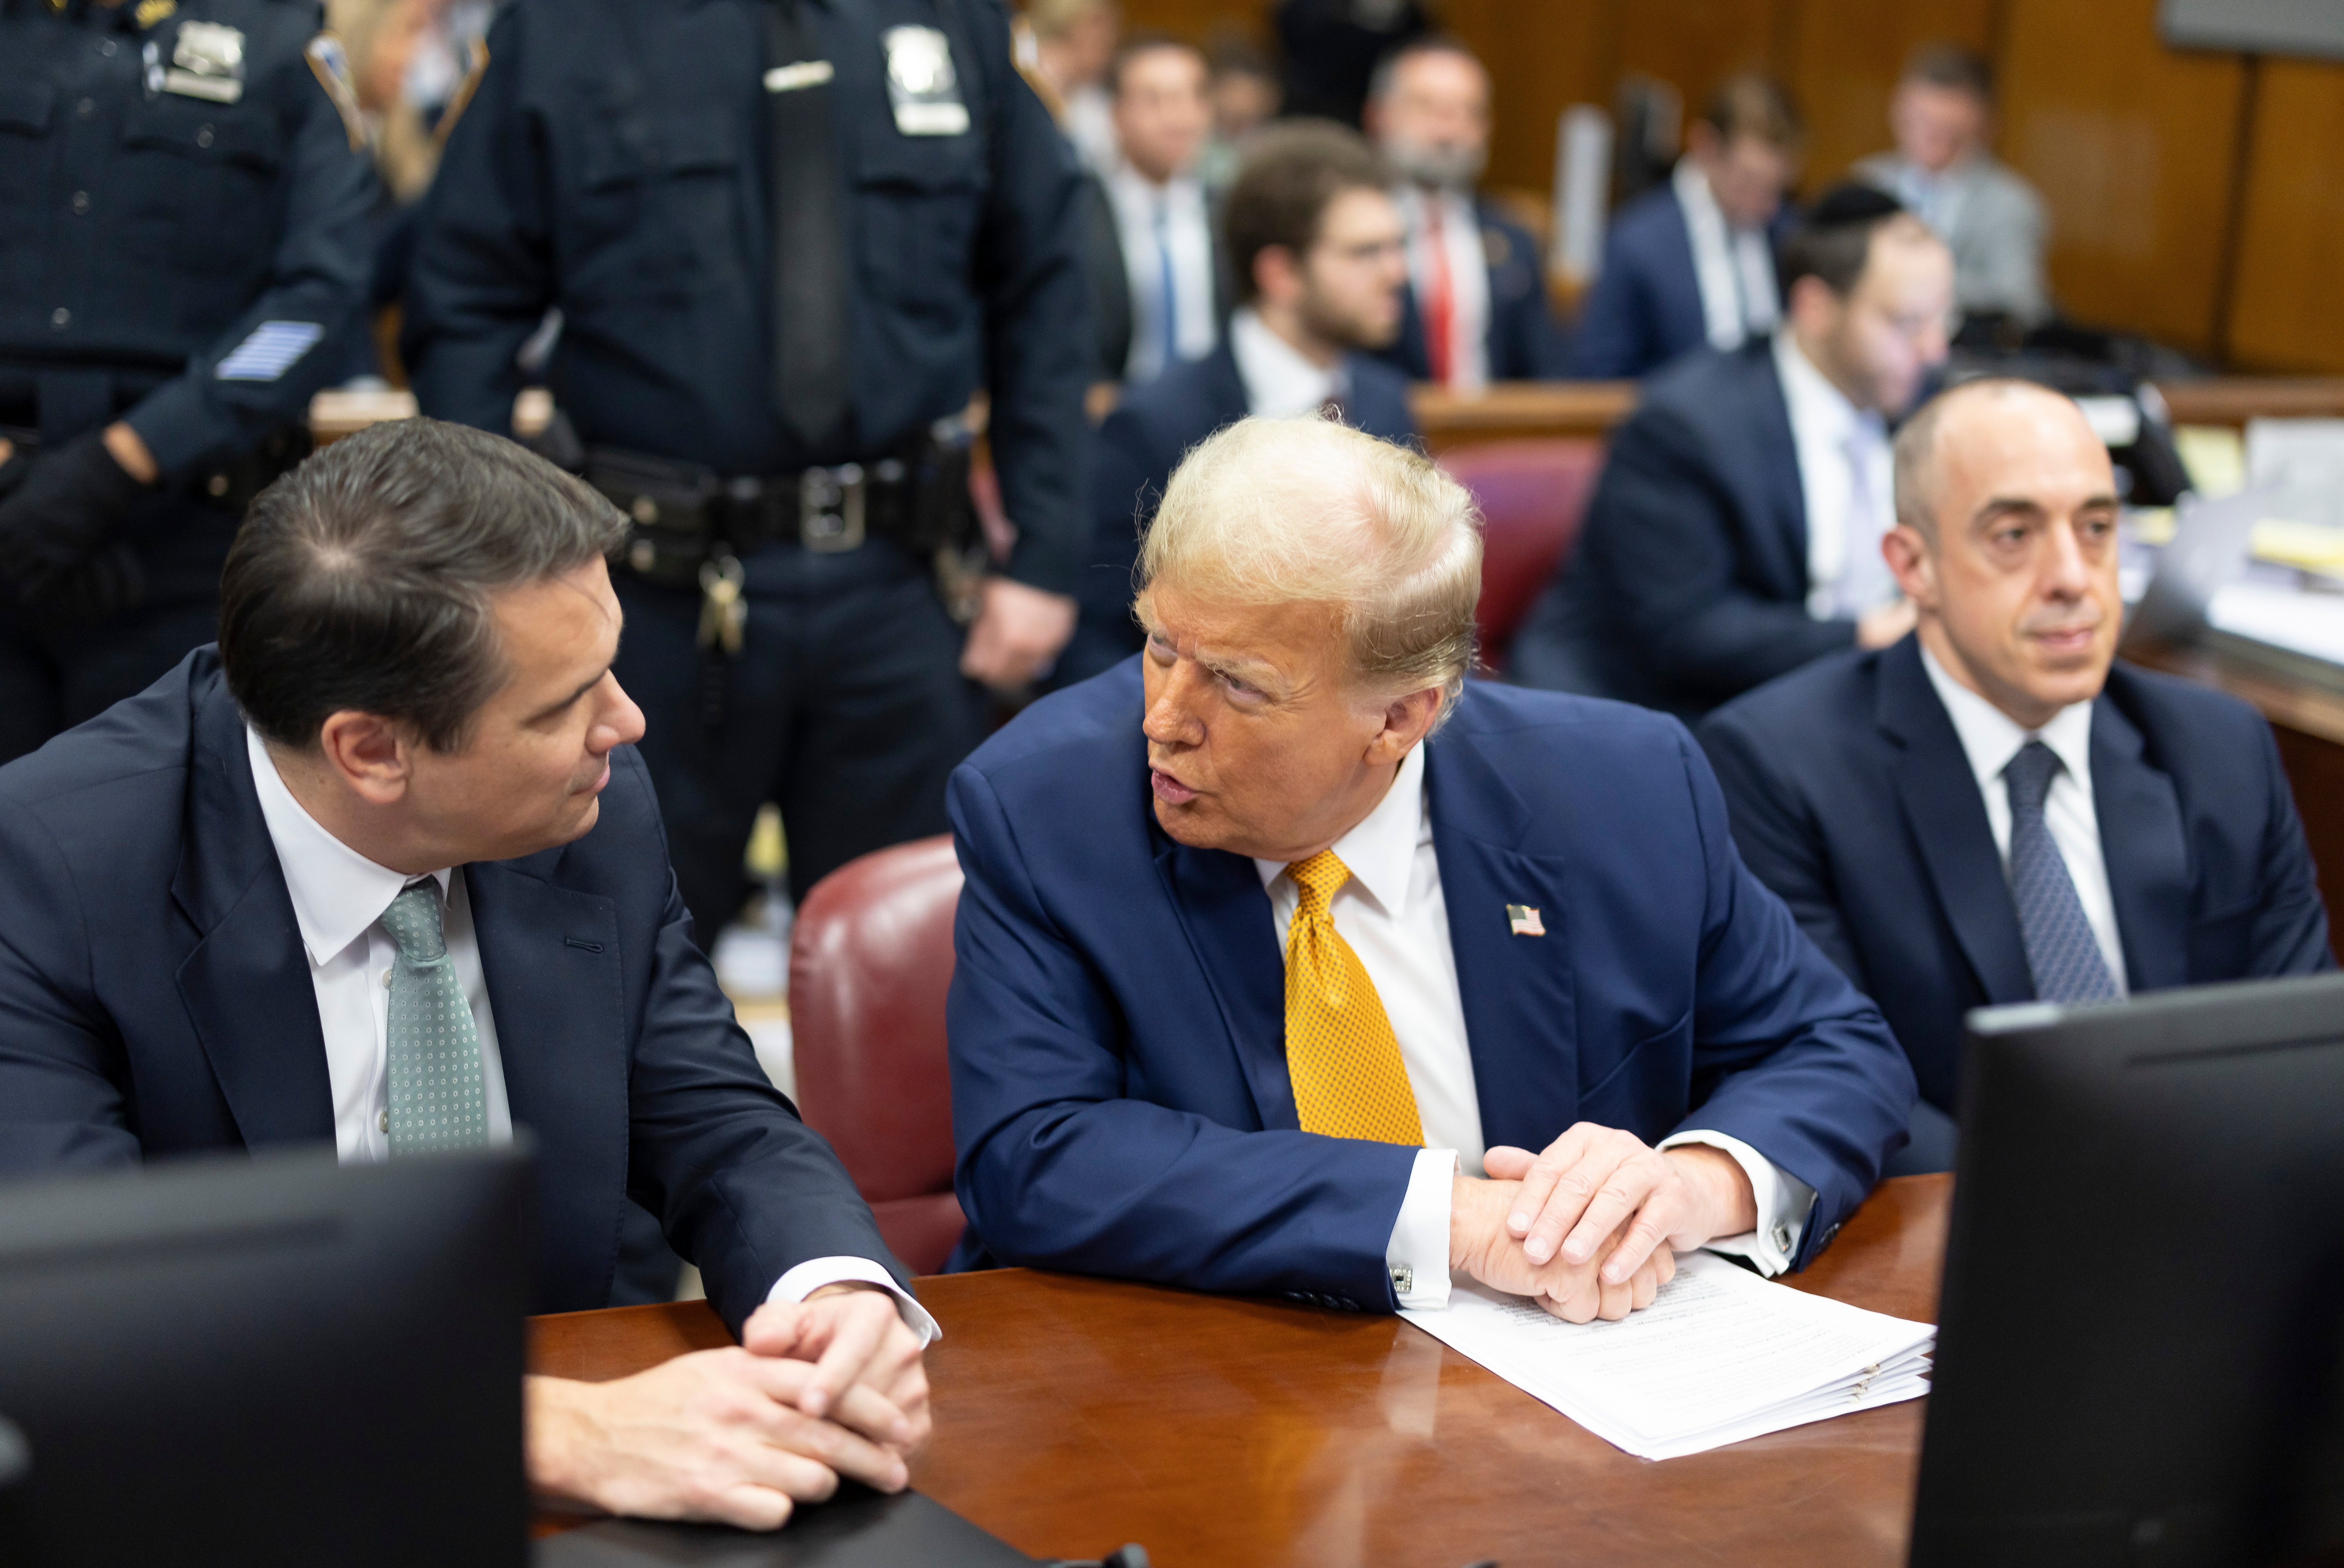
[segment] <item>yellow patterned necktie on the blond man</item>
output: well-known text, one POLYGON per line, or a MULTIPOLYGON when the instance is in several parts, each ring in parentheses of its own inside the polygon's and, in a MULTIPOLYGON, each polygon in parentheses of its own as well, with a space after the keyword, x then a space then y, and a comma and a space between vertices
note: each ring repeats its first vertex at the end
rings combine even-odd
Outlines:
POLYGON ((1322 848, 1287 867, 1301 888, 1287 926, 1287 1078, 1303 1132, 1423 1144, 1416 1092, 1367 966, 1334 928, 1350 867, 1322 848))

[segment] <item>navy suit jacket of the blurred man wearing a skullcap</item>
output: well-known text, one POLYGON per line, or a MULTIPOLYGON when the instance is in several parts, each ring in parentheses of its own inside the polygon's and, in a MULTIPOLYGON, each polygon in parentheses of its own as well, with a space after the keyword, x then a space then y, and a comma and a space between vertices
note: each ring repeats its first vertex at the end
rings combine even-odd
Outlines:
POLYGON ((1854 640, 1807 614, 1807 497, 1760 338, 1653 377, 1507 673, 1697 715, 1854 640))

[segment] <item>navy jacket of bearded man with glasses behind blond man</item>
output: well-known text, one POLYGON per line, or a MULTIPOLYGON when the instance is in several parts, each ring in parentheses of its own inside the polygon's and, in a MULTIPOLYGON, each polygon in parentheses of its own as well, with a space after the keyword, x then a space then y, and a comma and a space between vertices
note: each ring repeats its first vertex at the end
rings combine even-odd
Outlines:
MULTIPOLYGON (((1416 415, 1409 413, 1406 377, 1364 354, 1350 356, 1348 373, 1343 417, 1369 436, 1413 443, 1416 415)), ((1106 415, 1090 455, 1092 537, 1090 565, 1076 588, 1081 619, 1057 659, 1055 687, 1090 680, 1139 652, 1139 628, 1132 623, 1139 530, 1156 516, 1156 502, 1188 448, 1249 413, 1238 356, 1228 347, 1228 333, 1221 333, 1212 354, 1127 389, 1116 413, 1106 415)))

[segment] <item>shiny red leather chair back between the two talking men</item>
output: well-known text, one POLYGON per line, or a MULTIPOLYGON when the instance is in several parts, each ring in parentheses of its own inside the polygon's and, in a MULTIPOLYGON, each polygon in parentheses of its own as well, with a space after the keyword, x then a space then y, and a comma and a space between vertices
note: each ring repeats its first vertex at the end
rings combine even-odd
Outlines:
POLYGON ((966 1226, 952 1195, 945 1064, 959 902, 952 839, 919 839, 823 877, 790 935, 797 1106, 919 1275, 945 1266, 966 1226))

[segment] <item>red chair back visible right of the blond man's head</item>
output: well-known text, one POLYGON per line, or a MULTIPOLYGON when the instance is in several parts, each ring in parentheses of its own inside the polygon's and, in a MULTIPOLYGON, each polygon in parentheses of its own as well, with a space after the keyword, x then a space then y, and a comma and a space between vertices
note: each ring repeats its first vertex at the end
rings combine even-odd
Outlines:
POLYGON ((1578 544, 1603 471, 1601 441, 1491 441, 1442 452, 1481 504, 1481 656, 1505 668, 1514 628, 1578 544))

